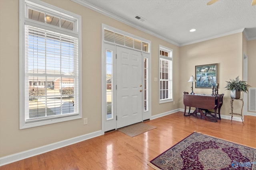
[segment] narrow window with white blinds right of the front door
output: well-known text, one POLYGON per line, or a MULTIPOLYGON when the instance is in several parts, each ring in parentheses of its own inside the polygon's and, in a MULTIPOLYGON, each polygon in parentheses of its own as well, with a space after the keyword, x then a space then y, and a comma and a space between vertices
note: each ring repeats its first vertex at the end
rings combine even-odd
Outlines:
POLYGON ((160 47, 159 50, 160 68, 160 103, 173 100, 172 94, 172 50, 160 47))

